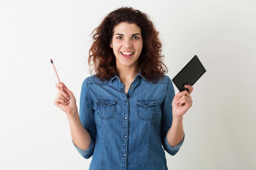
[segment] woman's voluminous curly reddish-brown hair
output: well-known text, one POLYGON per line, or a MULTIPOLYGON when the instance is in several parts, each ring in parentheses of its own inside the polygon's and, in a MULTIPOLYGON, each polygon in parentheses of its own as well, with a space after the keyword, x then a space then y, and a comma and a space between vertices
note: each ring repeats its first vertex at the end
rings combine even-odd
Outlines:
POLYGON ((158 37, 159 32, 146 13, 131 7, 121 7, 108 13, 101 24, 92 31, 94 41, 88 57, 90 74, 95 71, 96 76, 101 80, 108 80, 117 75, 115 55, 110 42, 114 27, 121 22, 134 23, 140 27, 143 47, 138 58, 138 71, 148 81, 156 82, 168 72, 168 68, 163 63, 164 55, 161 54, 162 43, 158 37))

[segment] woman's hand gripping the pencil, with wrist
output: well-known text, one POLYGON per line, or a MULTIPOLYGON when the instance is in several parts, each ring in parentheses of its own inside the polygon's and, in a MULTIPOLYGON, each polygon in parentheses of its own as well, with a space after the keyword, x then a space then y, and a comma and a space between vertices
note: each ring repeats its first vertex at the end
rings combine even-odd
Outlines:
POLYGON ((76 98, 74 97, 72 91, 70 91, 63 82, 56 83, 55 86, 58 89, 58 94, 54 100, 54 105, 60 108, 66 114, 71 115, 78 113, 76 98))

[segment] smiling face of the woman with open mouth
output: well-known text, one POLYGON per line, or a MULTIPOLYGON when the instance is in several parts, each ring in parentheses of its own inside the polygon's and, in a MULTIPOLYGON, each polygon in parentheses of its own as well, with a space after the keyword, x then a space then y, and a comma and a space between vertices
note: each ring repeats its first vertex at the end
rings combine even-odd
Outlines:
POLYGON ((114 27, 113 32, 110 47, 115 54, 117 68, 124 68, 124 66, 137 68, 143 46, 141 29, 136 24, 121 22, 114 27))

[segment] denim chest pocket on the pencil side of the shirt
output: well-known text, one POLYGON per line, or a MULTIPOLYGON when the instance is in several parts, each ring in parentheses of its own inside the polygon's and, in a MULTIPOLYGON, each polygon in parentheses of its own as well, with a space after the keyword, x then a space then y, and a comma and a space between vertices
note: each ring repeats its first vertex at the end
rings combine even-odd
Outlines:
POLYGON ((117 100, 96 99, 98 117, 104 120, 115 117, 117 100))

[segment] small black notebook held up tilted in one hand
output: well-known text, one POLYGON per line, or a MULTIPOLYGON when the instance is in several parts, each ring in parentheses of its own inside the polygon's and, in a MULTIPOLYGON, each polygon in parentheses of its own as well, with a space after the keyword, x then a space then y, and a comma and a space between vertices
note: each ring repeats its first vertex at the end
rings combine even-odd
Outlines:
POLYGON ((178 88, 180 92, 186 90, 184 85, 189 84, 193 86, 196 81, 206 72, 204 66, 200 62, 198 56, 192 57, 191 60, 181 69, 175 77, 173 77, 172 81, 175 86, 178 88))

